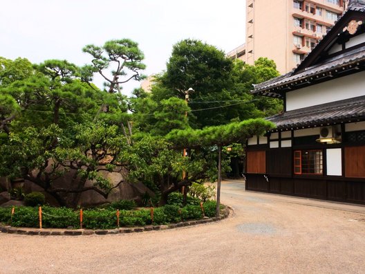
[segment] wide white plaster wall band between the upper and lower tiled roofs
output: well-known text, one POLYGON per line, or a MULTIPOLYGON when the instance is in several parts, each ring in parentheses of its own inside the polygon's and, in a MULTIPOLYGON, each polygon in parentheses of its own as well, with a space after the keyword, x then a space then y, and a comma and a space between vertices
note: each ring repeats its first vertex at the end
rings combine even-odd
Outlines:
POLYGON ((365 71, 286 93, 286 110, 365 95, 365 71))

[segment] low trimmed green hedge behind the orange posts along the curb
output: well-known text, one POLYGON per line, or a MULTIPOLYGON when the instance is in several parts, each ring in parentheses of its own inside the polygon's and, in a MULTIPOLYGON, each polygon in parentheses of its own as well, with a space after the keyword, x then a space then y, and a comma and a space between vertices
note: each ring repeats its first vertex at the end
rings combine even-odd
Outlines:
MULTIPOLYGON (((216 202, 206 201, 203 204, 205 216, 214 217, 216 202)), ((38 208, 16 207, 11 218, 12 208, 0 208, 0 222, 15 227, 39 227, 38 208)), ((112 206, 84 210, 83 228, 113 229, 117 227, 117 210, 112 206)), ((42 228, 79 228, 79 211, 71 208, 42 207, 42 228)), ((184 208, 176 205, 166 205, 153 210, 120 210, 120 226, 147 226, 167 223, 178 223, 191 219, 203 218, 200 206, 187 205, 184 208)))

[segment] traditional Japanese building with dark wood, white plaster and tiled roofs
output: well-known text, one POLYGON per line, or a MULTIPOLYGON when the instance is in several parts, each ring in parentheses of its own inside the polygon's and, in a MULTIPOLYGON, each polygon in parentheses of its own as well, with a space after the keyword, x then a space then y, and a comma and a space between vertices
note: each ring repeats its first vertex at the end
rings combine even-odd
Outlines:
POLYGON ((247 190, 365 203, 365 0, 350 1, 297 69, 252 93, 284 111, 247 141, 247 190))

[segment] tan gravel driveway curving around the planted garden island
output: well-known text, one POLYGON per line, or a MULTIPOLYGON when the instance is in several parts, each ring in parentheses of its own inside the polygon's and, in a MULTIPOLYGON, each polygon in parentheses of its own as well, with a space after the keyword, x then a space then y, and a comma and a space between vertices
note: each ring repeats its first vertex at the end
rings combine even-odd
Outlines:
POLYGON ((365 207, 245 192, 224 221, 106 236, 0 233, 0 273, 365 273, 365 207))

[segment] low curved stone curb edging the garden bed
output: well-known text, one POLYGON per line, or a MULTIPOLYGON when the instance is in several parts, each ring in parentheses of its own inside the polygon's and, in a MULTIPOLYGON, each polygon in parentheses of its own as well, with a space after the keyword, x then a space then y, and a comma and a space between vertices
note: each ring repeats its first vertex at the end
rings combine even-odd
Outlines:
POLYGON ((75 230, 52 230, 52 228, 13 228, 12 226, 2 226, 0 223, 0 232, 18 235, 39 235, 39 236, 81 236, 81 235, 116 235, 123 233, 138 233, 145 231, 167 230, 174 228, 182 228, 186 226, 196 226, 205 223, 212 223, 215 221, 221 221, 227 217, 231 217, 234 209, 230 206, 226 206, 223 210, 223 214, 220 217, 212 217, 209 219, 191 220, 180 223, 170 223, 169 225, 160 226, 144 226, 135 228, 117 228, 111 230, 88 230, 88 229, 75 229, 75 230))

